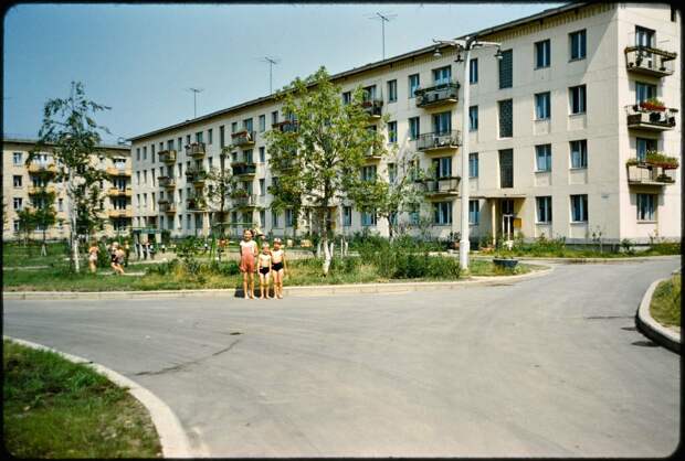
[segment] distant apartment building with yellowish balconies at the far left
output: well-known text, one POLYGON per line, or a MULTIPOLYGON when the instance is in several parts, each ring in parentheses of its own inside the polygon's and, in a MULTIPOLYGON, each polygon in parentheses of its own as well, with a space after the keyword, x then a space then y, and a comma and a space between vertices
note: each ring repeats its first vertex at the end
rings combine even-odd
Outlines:
MULTIPOLYGON (((4 204, 2 239, 19 238, 19 218, 17 213, 28 206, 41 206, 44 192, 55 194, 54 210, 57 224, 51 226, 45 237, 48 239, 68 238, 70 222, 67 212, 68 197, 65 185, 54 181, 56 165, 46 149, 29 165, 29 152, 35 146, 34 139, 2 139, 2 202, 4 204)), ((101 189, 105 191, 102 201, 102 217, 106 218, 105 227, 97 236, 113 237, 127 235, 130 232, 133 211, 130 197, 130 147, 105 146, 93 157, 93 162, 108 173, 108 180, 103 181, 101 189)), ((36 229, 35 238, 42 238, 43 229, 36 229)))

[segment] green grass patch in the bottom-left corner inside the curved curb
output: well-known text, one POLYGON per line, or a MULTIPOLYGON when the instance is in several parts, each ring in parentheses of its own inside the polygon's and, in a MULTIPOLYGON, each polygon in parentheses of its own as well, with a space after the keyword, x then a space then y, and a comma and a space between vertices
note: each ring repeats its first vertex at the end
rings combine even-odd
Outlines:
POLYGON ((3 438, 17 458, 161 458, 147 409, 55 353, 3 342, 3 438))

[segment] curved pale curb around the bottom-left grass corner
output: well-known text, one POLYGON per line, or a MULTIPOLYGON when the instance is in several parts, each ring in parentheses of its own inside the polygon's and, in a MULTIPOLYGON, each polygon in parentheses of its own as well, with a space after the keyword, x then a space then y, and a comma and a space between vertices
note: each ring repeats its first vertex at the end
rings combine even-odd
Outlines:
POLYGON ((8 335, 2 335, 2 337, 27 347, 54 352, 67 361, 76 364, 88 365, 99 374, 106 376, 107 379, 117 386, 127 388, 128 393, 140 401, 149 411, 150 418, 157 429, 157 435, 159 436, 164 458, 197 458, 204 454, 193 452, 188 436, 171 408, 169 408, 169 406, 159 397, 140 386, 138 383, 107 368, 104 365, 88 361, 87 358, 67 354, 31 341, 19 340, 8 335))

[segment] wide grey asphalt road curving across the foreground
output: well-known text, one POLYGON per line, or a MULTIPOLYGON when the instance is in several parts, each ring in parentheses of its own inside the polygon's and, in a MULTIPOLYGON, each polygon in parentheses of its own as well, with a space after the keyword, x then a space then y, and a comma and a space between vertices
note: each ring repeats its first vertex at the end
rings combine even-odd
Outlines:
POLYGON ((399 294, 4 301, 4 333, 157 394, 218 457, 664 457, 679 356, 634 329, 679 258, 399 294))

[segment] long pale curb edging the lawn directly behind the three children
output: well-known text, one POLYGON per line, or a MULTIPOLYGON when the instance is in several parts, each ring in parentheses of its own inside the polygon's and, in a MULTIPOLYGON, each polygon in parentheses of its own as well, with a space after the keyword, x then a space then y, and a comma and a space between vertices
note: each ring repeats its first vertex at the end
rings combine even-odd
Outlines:
MULTIPOLYGON (((419 281, 392 283, 349 283, 324 285, 304 287, 284 287, 285 296, 314 297, 329 294, 358 293, 399 293, 408 291, 430 291, 435 289, 460 289, 479 285, 502 285, 508 281, 527 280, 550 274, 554 266, 534 270, 518 276, 472 277, 460 281, 419 281)), ((62 300, 62 299, 159 299, 159 298, 191 298, 191 297, 235 297, 235 289, 207 290, 159 290, 159 291, 4 291, 3 300, 62 300)))

